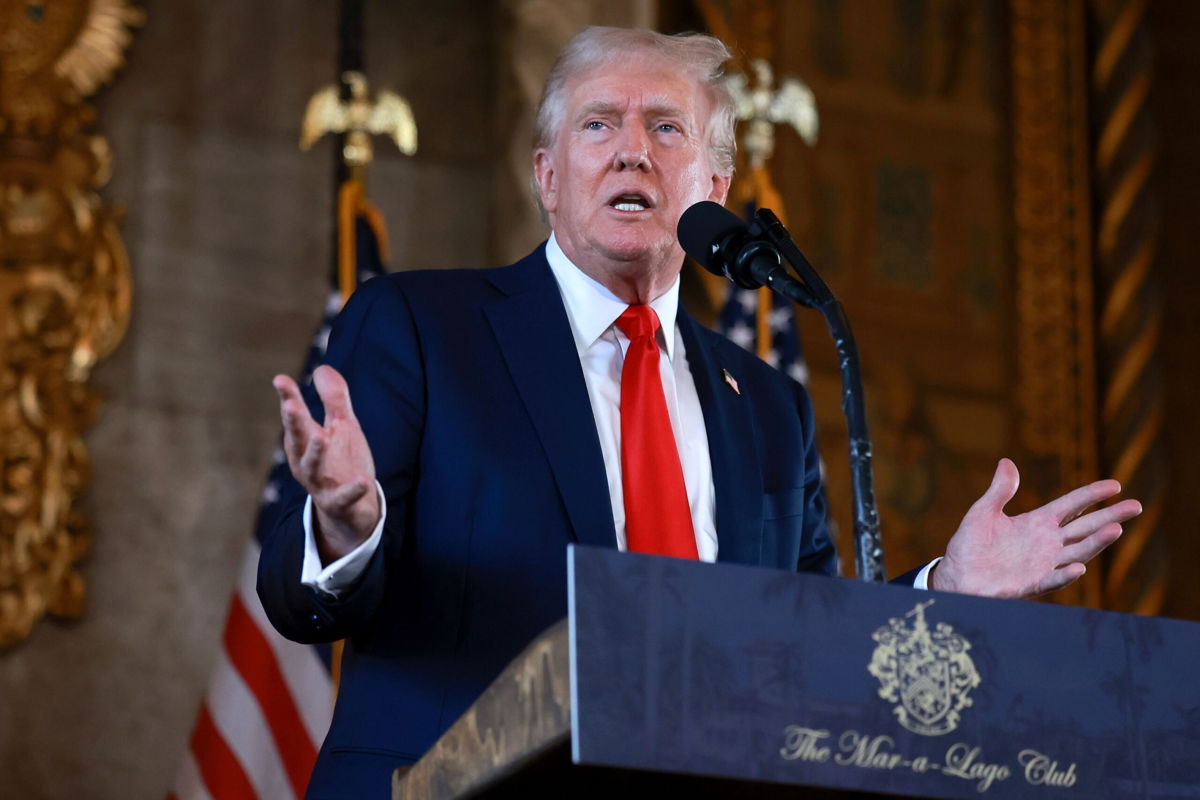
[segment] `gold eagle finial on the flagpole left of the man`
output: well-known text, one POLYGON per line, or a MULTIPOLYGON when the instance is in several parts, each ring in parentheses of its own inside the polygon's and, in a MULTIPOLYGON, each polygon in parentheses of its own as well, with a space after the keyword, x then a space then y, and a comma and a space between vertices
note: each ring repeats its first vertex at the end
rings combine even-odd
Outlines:
POLYGON ((388 134, 406 156, 416 152, 416 121, 408 101, 394 91, 380 90, 374 102, 367 96, 367 79, 361 72, 346 72, 350 98, 342 101, 337 86, 325 86, 312 96, 300 128, 300 149, 307 150, 325 133, 346 133, 342 158, 349 167, 371 163, 371 134, 388 134))

